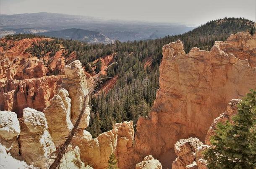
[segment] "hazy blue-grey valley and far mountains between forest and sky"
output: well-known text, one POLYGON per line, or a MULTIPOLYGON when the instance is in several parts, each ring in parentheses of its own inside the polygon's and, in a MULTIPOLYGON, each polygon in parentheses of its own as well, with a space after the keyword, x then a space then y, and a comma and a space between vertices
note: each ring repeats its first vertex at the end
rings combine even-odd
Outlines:
POLYGON ((167 35, 185 33, 192 29, 193 27, 178 23, 103 20, 94 17, 58 13, 0 15, 0 37, 17 33, 40 33, 41 35, 54 35, 60 38, 82 40, 89 43, 111 43, 113 40, 125 42, 162 38, 167 35), (73 28, 77 30, 72 30, 73 28), (86 35, 90 31, 92 34, 98 34, 94 37, 96 39, 86 35), (77 35, 71 32, 76 32, 77 35), (82 35, 87 36, 88 39, 84 39, 82 35))

